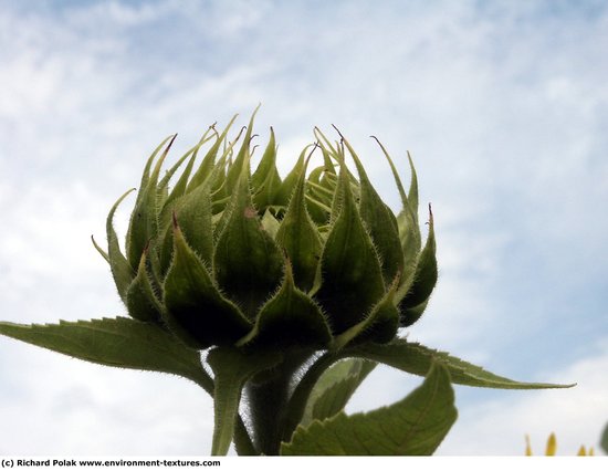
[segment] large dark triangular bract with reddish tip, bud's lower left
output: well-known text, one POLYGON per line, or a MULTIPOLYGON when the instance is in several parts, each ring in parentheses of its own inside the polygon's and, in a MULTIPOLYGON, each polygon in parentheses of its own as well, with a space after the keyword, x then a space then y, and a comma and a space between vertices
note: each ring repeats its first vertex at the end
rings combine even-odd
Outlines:
POLYGON ((232 344, 250 328, 241 311, 213 283, 175 221, 175 257, 165 280, 164 318, 189 345, 206 348, 232 344))

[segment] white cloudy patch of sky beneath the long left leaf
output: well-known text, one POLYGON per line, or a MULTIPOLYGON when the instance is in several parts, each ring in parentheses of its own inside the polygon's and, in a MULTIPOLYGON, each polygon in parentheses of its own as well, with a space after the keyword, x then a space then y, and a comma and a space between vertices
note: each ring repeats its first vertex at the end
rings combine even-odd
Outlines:
POLYGON ((2 352, 0 454, 209 452, 212 404, 193 383, 95 366, 12 341, 2 352))

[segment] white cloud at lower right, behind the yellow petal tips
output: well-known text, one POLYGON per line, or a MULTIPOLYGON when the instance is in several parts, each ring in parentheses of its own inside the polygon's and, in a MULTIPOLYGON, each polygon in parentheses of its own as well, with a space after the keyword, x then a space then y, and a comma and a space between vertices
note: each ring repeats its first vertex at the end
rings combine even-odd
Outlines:
MULTIPOLYGON (((599 439, 608 423, 608 338, 595 355, 566 368, 547 371, 544 380, 576 381, 572 389, 499 391, 460 410, 457 425, 441 444, 440 454, 523 454, 530 435, 535 454, 544 454, 546 439, 555 432, 558 454, 574 456, 580 446, 599 452, 599 439)), ((459 393, 457 390, 457 404, 459 393)))

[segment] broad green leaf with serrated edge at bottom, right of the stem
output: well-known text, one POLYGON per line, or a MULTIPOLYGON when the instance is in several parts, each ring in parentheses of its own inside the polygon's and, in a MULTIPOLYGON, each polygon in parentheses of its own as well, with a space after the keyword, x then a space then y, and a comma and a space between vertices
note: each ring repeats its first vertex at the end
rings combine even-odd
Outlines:
POLYGON ((433 365, 424 381, 405 399, 367 414, 338 414, 298 427, 286 456, 429 456, 439 447, 458 412, 450 375, 433 365))

